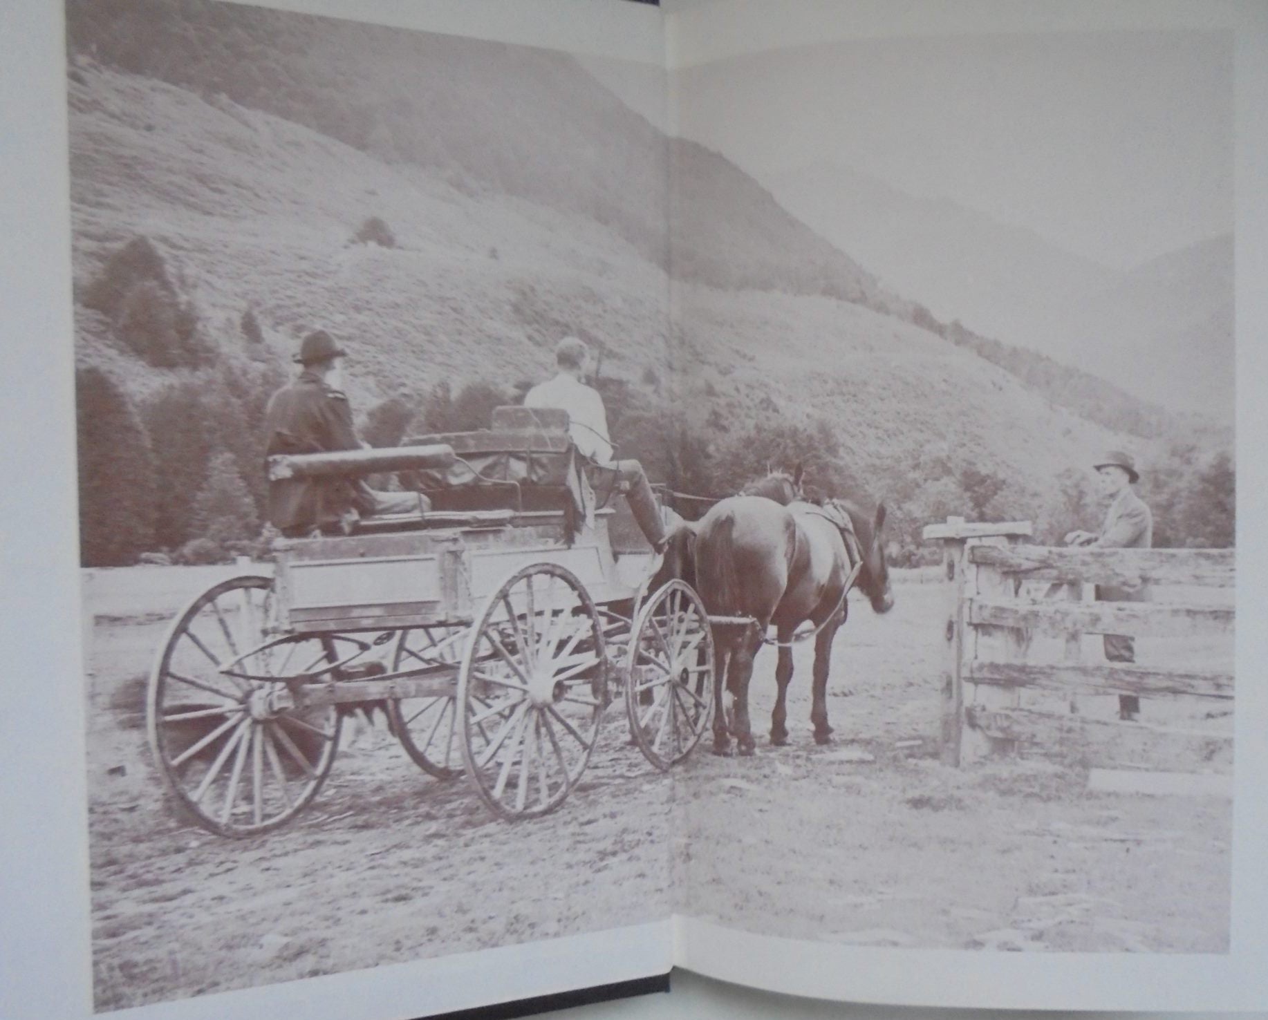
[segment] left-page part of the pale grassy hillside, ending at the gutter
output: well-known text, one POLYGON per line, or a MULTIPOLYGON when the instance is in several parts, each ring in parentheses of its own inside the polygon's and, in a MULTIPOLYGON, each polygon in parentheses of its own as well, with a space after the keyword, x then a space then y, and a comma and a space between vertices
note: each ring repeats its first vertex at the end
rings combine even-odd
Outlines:
MULTIPOLYGON (((351 345, 354 400, 439 380, 550 370, 562 329, 605 371, 663 366, 664 276, 620 237, 506 195, 467 195, 425 172, 269 114, 170 85, 80 68, 70 82, 75 275, 82 289, 129 237, 155 241, 224 346, 251 307, 289 355, 326 327, 351 345), (383 218, 396 248, 351 245, 383 218)), ((146 370, 80 316, 85 357, 146 370)), ((132 376, 136 376, 134 379, 132 376)))

